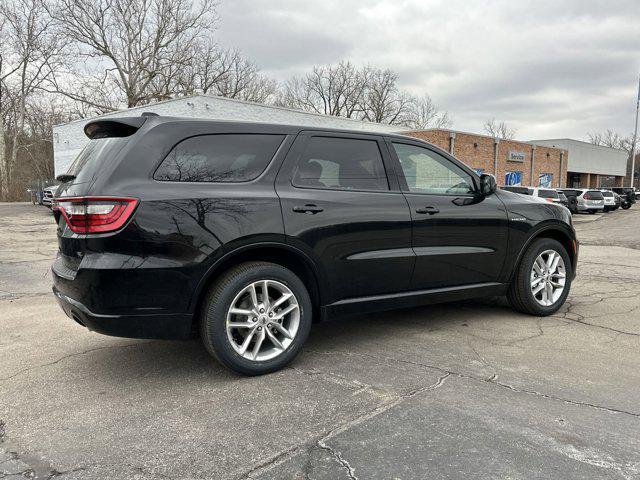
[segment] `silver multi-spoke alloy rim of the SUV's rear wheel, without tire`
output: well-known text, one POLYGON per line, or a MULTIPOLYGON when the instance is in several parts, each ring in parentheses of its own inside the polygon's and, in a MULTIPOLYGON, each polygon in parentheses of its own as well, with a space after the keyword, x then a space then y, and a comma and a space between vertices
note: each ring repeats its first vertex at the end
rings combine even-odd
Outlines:
POLYGON ((300 306, 293 292, 275 280, 244 287, 227 312, 227 338, 233 349, 252 361, 271 360, 293 342, 300 326, 300 306))

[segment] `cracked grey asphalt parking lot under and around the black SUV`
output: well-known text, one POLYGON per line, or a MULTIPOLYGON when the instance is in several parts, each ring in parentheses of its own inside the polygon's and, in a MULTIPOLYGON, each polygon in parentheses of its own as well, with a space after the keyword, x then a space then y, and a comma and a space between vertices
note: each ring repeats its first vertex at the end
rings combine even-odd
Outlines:
POLYGON ((576 225, 552 317, 500 299, 350 317, 244 378, 198 341, 73 323, 49 211, 0 204, 0 478, 640 478, 640 206, 576 225))

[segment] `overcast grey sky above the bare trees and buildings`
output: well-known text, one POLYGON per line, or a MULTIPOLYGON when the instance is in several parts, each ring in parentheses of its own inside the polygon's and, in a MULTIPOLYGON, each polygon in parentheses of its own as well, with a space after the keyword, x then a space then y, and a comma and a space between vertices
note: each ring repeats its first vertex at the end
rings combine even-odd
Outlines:
POLYGON ((391 68, 457 130, 519 139, 633 130, 640 0, 222 0, 220 43, 278 80, 351 60, 391 68))

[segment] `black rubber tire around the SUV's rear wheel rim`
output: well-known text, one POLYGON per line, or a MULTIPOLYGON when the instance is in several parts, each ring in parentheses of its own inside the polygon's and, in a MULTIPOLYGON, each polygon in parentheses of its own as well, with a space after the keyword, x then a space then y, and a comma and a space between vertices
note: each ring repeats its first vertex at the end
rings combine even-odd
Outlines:
POLYGON ((225 272, 210 288, 200 319, 200 336, 207 351, 222 364, 243 375, 262 375, 280 370, 300 351, 309 336, 312 306, 304 283, 289 269, 267 262, 247 262, 225 272), (252 282, 274 280, 284 284, 295 295, 300 308, 297 334, 291 344, 270 360, 256 361, 244 358, 231 345, 227 337, 227 312, 238 293, 252 282))

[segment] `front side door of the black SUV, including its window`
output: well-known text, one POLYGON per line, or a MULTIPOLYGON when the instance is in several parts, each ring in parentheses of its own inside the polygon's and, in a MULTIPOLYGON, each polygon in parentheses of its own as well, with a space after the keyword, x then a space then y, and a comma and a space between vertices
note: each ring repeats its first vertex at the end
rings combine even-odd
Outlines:
POLYGON ((477 193, 461 164, 410 140, 389 142, 413 220, 412 289, 498 281, 507 248, 507 213, 497 195, 477 193))

